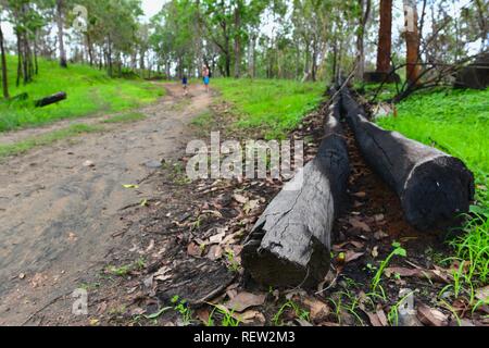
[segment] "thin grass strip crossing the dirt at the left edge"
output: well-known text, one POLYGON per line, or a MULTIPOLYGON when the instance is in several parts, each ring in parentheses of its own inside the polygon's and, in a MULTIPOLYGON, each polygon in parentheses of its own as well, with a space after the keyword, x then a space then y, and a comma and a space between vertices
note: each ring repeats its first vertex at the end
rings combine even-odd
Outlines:
POLYGON ((40 136, 33 136, 18 142, 0 145, 0 158, 25 153, 33 148, 51 145, 55 141, 78 136, 80 134, 102 132, 102 130, 103 128, 100 126, 75 124, 70 127, 53 130, 40 136))

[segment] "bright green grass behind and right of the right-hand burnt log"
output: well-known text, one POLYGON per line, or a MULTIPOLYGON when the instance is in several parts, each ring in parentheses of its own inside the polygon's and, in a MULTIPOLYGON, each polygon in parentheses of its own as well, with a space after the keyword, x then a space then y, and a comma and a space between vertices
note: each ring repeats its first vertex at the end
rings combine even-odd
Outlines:
POLYGON ((469 282, 487 284, 489 266, 489 90, 436 90, 398 105, 398 117, 377 123, 462 159, 476 176, 476 207, 451 244, 471 261, 469 282))

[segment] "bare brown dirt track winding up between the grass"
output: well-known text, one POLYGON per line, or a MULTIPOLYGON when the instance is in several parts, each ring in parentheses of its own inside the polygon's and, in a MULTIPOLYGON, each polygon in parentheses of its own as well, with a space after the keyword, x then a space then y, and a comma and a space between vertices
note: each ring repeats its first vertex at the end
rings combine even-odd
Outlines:
POLYGON ((178 85, 165 88, 168 96, 141 110, 145 121, 0 164, 0 325, 23 324, 71 294, 80 276, 103 265, 123 243, 121 209, 151 196, 143 179, 153 170, 147 163, 181 154, 191 136, 189 121, 211 102, 201 86, 186 99, 178 85), (86 161, 95 166, 84 166, 86 161))

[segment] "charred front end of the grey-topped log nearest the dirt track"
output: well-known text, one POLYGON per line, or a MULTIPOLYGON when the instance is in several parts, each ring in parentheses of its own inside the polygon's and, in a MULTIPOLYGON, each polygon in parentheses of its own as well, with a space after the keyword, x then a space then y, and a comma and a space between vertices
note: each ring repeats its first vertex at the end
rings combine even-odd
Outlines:
POLYGON ((330 250, 312 237, 310 261, 302 265, 281 258, 268 249, 261 249, 260 240, 249 241, 242 251, 242 263, 251 277, 260 284, 274 287, 314 288, 329 271, 330 250))

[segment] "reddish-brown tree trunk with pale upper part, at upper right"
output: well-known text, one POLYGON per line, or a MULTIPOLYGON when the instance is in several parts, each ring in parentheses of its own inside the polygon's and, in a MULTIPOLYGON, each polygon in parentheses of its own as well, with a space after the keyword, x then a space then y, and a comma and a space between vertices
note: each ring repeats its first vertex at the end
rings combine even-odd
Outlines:
POLYGON ((406 78, 411 85, 417 85, 419 76, 419 33, 417 27, 417 8, 415 0, 403 0, 406 42, 406 78))

